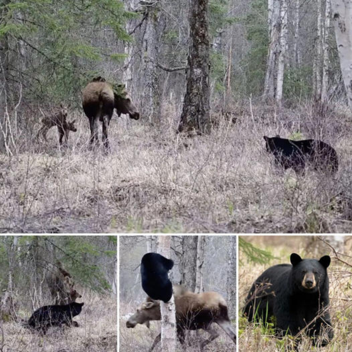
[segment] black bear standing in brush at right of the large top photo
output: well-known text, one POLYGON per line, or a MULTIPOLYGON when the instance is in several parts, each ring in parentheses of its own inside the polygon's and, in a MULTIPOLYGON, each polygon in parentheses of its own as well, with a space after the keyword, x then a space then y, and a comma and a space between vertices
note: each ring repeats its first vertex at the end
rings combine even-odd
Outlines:
POLYGON ((292 168, 303 174, 306 163, 316 170, 324 170, 334 174, 339 168, 335 149, 327 143, 316 139, 291 140, 264 136, 266 150, 274 154, 275 162, 285 170, 292 168))

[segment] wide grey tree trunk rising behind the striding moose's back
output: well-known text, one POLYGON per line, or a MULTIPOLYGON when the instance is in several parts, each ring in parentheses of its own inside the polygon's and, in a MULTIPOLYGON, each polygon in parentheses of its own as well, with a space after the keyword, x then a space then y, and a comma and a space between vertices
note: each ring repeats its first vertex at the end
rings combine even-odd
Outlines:
POLYGON ((197 236, 182 236, 181 282, 192 292, 194 292, 196 287, 197 243, 197 236))

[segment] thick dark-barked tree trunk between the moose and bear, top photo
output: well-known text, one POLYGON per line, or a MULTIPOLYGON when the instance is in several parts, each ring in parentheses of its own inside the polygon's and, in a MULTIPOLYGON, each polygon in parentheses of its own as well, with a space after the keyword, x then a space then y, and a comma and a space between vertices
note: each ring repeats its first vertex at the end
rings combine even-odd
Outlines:
POLYGON ((178 131, 209 131, 208 0, 191 0, 187 87, 178 131))

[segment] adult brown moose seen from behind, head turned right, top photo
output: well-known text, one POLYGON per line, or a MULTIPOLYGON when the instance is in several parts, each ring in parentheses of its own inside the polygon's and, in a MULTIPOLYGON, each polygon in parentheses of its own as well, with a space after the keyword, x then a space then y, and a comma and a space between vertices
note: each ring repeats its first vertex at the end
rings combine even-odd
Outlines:
POLYGON ((128 97, 124 84, 111 84, 102 77, 96 77, 83 89, 83 111, 89 119, 90 144, 98 144, 98 120, 102 122, 102 142, 105 150, 109 149, 108 127, 114 109, 117 114, 130 115, 138 120, 139 112, 128 97))

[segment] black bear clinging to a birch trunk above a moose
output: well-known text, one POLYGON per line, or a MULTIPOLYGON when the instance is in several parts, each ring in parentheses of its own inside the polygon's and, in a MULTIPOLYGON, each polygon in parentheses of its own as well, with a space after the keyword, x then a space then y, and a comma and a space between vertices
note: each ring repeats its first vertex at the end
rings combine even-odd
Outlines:
POLYGON ((172 283, 168 271, 174 262, 158 253, 147 253, 140 264, 142 288, 153 300, 170 301, 172 296, 172 283))

